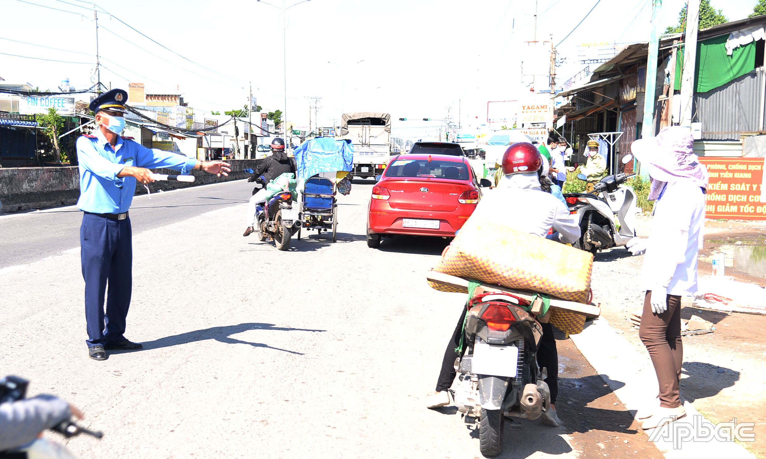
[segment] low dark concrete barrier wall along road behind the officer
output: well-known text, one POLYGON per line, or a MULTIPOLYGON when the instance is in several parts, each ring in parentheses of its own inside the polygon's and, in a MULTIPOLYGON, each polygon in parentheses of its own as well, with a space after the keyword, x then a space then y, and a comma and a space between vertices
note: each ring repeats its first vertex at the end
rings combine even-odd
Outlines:
MULTIPOLYGON (((254 159, 234 159, 228 177, 216 177, 205 171, 192 171, 197 177, 193 184, 175 181, 156 181, 149 184, 149 190, 172 190, 194 187, 220 181, 247 178, 244 171, 254 168, 254 159)), ((178 174, 170 169, 153 169, 157 174, 178 174)), ((136 194, 146 194, 146 188, 136 185, 136 194)), ((69 206, 80 197, 80 171, 77 167, 64 168, 0 168, 0 212, 44 209, 46 207, 69 206)))

